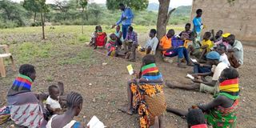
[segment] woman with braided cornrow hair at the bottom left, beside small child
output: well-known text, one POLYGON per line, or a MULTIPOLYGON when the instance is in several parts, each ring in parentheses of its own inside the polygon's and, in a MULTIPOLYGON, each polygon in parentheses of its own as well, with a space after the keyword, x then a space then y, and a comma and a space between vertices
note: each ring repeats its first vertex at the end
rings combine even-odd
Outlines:
POLYGON ((80 122, 73 119, 82 110, 82 100, 81 94, 75 92, 68 94, 66 97, 68 110, 66 110, 65 114, 55 114, 50 118, 46 128, 84 128, 80 122))

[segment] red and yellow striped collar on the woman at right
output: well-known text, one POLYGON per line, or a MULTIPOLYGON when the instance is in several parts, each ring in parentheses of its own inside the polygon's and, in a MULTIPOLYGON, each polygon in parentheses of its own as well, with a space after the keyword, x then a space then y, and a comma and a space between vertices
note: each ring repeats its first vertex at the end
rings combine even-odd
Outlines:
POLYGON ((239 91, 238 78, 228 79, 224 82, 221 82, 219 85, 219 90, 226 91, 226 92, 238 92, 239 91))

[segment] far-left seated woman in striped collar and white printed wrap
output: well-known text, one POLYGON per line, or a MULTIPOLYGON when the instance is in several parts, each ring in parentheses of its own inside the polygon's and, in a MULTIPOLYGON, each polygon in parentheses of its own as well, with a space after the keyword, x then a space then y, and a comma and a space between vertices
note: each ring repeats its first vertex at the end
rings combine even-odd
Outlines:
POLYGON ((10 117, 18 126, 37 128, 45 126, 43 100, 46 94, 34 94, 32 82, 36 78, 34 66, 24 64, 7 94, 10 117))

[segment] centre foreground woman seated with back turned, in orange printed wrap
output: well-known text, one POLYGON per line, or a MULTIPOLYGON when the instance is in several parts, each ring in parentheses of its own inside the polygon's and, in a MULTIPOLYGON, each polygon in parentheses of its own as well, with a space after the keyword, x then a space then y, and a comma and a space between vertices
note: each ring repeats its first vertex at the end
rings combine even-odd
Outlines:
POLYGON ((128 83, 128 108, 122 109, 127 114, 138 113, 140 127, 163 127, 163 112, 166 101, 163 94, 162 74, 155 65, 154 55, 146 54, 142 58, 142 68, 138 79, 128 83))

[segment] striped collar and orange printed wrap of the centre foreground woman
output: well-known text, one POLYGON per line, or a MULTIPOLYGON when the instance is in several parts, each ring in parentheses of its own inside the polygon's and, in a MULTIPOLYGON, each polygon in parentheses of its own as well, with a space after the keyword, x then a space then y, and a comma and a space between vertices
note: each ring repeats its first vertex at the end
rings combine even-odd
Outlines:
POLYGON ((133 109, 138 112, 140 127, 154 125, 154 118, 166 111, 166 99, 163 93, 162 74, 155 64, 142 67, 142 78, 131 82, 133 109))

